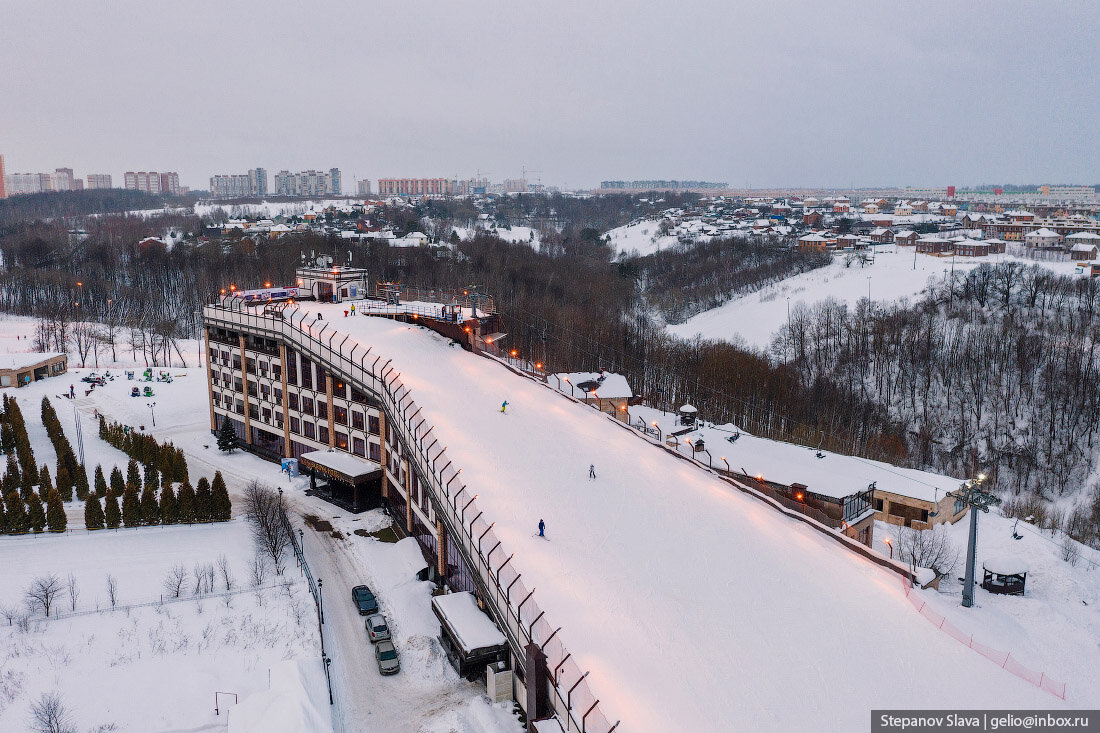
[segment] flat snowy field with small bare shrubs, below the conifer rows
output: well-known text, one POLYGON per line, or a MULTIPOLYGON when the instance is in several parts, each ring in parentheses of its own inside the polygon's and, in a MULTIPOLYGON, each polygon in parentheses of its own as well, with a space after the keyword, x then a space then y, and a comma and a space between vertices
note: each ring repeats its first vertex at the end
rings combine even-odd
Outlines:
MULTIPOLYGON (((30 420, 29 420, 30 422, 30 420)), ((28 730, 33 701, 57 691, 80 731, 219 730, 216 691, 241 700, 267 688, 268 667, 300 660, 320 669, 316 616, 292 564, 285 588, 250 583, 254 557, 241 519, 206 526, 147 527, 37 537, 0 536, 0 608, 20 608, 37 577, 76 582, 81 615, 24 630, 0 625, 0 730, 28 730), (224 555, 233 590, 196 595, 194 567, 224 555), (160 602, 175 565, 188 572, 184 601, 160 602), (118 583, 111 610, 107 577, 118 583), (150 603, 141 608, 122 608, 150 603), (117 729, 96 726, 114 724, 117 729)), ((67 591, 51 615, 70 614, 67 591)), ((222 712, 230 699, 222 700, 222 712)))

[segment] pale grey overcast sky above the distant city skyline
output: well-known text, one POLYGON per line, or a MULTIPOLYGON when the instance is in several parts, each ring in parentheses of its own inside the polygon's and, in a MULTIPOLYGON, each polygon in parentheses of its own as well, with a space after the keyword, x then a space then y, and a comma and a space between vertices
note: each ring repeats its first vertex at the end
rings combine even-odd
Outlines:
POLYGON ((1100 2, 0 0, 11 172, 1100 183, 1100 2))

